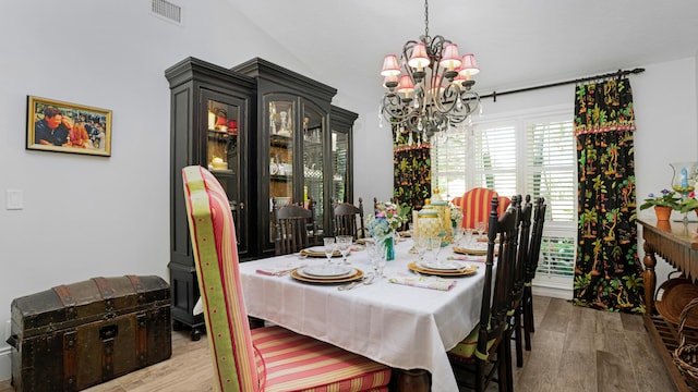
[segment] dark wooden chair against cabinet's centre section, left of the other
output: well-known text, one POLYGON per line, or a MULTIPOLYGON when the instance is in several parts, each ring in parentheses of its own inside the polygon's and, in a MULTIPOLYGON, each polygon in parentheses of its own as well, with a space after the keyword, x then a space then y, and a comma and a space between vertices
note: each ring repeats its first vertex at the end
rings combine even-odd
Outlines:
POLYGON ((289 255, 317 245, 317 224, 312 200, 308 208, 294 204, 277 208, 275 203, 273 217, 275 255, 289 255))

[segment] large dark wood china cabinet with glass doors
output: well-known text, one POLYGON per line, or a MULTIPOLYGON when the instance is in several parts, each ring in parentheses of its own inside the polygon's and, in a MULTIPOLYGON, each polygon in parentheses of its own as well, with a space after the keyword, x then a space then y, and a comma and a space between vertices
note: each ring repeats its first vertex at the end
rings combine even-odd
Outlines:
POLYGON ((170 290, 174 327, 204 332, 193 316, 198 284, 181 170, 207 168, 229 197, 241 261, 274 254, 272 207, 315 206, 318 237, 332 230, 330 200, 352 200, 357 114, 337 93, 263 59, 232 69, 186 58, 165 71, 170 85, 170 290))

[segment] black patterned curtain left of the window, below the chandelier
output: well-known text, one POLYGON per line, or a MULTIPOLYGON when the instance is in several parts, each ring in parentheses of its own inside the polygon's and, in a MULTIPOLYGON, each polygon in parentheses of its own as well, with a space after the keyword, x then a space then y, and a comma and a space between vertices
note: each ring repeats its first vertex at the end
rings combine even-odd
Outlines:
MULTIPOLYGON (((411 132, 393 131, 393 197, 409 211, 421 209, 432 194, 431 146, 411 132)), ((411 212, 408 221, 411 221, 411 212)))

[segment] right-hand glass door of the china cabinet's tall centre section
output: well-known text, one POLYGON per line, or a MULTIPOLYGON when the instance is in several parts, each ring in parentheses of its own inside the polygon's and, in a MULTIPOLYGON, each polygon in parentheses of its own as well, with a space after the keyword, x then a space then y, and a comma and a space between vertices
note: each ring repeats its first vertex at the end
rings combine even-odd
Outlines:
POLYGON ((303 200, 315 204, 315 222, 323 232, 325 218, 324 149, 325 117, 310 105, 303 105, 303 200))

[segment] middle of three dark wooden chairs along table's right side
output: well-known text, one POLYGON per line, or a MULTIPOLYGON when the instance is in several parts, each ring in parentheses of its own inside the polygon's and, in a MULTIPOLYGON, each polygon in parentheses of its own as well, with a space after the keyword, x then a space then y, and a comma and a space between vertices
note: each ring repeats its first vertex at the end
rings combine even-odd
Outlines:
POLYGON ((512 205, 519 211, 519 230, 518 230, 518 244, 516 255, 516 268, 514 274, 514 287, 512 291, 512 308, 510 315, 510 328, 512 335, 515 341, 516 352, 516 366, 524 366, 524 347, 522 347, 522 328, 521 318, 524 313, 524 286, 526 282, 526 267, 529 260, 529 238, 531 234, 531 210, 533 205, 531 204, 531 196, 526 195, 526 200, 521 203, 521 196, 515 196, 512 198, 512 205))

